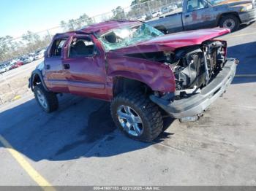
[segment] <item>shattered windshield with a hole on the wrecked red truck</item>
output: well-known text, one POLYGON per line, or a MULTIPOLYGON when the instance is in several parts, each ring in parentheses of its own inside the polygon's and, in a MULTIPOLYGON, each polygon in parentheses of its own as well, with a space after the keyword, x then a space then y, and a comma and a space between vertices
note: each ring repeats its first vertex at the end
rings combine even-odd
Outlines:
POLYGON ((127 47, 138 42, 152 39, 156 36, 164 35, 156 28, 143 23, 140 26, 129 26, 125 28, 117 28, 108 34, 99 36, 105 50, 116 50, 118 48, 127 47))

